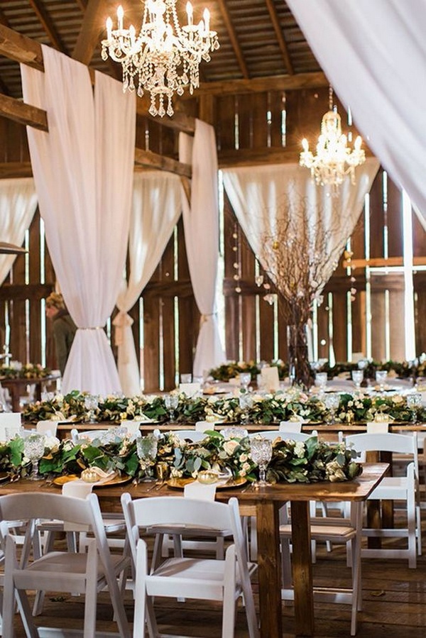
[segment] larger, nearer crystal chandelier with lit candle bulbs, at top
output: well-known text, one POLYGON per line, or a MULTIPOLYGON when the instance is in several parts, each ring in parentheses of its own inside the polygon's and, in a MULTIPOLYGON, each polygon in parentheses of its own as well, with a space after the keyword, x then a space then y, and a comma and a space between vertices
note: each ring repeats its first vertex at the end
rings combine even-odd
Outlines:
POLYGON ((172 97, 182 95, 189 84, 190 94, 200 85, 201 60, 210 60, 210 51, 219 48, 216 31, 210 31, 210 14, 204 9, 203 18, 194 24, 192 4, 187 2, 187 25, 180 26, 176 0, 145 0, 143 21, 139 35, 133 24, 123 28, 124 10, 117 9, 117 28, 107 19, 107 39, 102 40, 102 60, 108 55, 123 67, 123 90, 138 96, 151 93, 151 115, 173 115, 172 97), (158 103, 157 103, 158 97, 158 103), (167 97, 167 111, 164 98, 167 97))

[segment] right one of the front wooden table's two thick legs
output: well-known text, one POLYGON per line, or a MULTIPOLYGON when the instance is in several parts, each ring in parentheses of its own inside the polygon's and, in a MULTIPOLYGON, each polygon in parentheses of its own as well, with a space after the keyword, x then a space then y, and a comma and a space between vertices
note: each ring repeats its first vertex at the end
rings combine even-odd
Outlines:
POLYGON ((314 635, 314 593, 309 501, 291 502, 293 587, 295 590, 295 634, 314 635))

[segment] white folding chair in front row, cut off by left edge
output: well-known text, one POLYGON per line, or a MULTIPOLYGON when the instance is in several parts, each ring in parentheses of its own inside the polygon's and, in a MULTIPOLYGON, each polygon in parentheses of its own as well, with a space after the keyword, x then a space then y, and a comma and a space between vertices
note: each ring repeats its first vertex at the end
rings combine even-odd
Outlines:
POLYGON ((117 578, 129 567, 129 557, 112 555, 102 522, 97 496, 87 499, 65 497, 60 494, 18 493, 0 497, 1 532, 6 539, 4 566, 3 635, 13 637, 14 600, 18 600, 27 635, 37 637, 26 590, 79 592, 85 595, 84 638, 92 638, 96 630, 97 593, 108 588, 114 607, 114 618, 121 638, 129 638, 124 603, 117 578), (26 566, 17 560, 16 544, 4 521, 27 517, 31 520, 55 517, 70 524, 89 525, 94 539, 87 554, 70 551, 49 551, 26 566))

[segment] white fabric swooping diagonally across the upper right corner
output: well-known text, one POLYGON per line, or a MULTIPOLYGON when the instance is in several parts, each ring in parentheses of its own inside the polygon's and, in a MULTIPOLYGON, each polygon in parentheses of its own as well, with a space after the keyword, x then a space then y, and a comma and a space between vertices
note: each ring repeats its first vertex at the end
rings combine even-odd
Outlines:
POLYGON ((425 0, 288 0, 339 98, 426 216, 425 0))

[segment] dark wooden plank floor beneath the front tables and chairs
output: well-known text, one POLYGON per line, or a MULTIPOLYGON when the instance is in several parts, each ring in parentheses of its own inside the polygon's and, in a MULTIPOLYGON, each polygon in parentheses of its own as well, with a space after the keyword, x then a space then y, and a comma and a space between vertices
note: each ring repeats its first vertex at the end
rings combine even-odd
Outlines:
MULTIPOLYGON (((422 511, 425 516, 426 512, 422 511)), ((426 526, 424 532, 426 533, 426 526)), ((426 539, 426 536, 424 536, 426 539)), ((395 541, 392 541, 395 542, 395 541)), ((318 559, 314 566, 315 583, 349 586, 350 573, 346 568, 344 548, 334 546, 327 554, 319 546, 318 559)), ((256 583, 254 585, 256 592, 256 583)), ((257 598, 257 597, 256 597, 257 598)), ((133 605, 130 593, 126 593, 126 607, 132 620, 133 605)), ((39 626, 81 628, 84 599, 72 596, 47 597, 43 615, 37 618, 39 626)), ((257 603, 257 600, 256 600, 257 603)), ((216 638, 221 634, 221 608, 216 603, 156 600, 156 614, 160 632, 180 636, 216 638)), ((111 606, 107 594, 102 593, 98 604, 99 632, 115 632, 111 622, 111 606)), ((315 637, 349 637, 350 610, 347 605, 315 605, 315 637)), ((293 606, 283 605, 283 636, 293 638, 293 606)), ((426 632, 426 555, 421 556, 417 569, 409 569, 407 561, 363 561, 363 610, 359 612, 357 635, 361 638, 420 638, 426 632)), ((142 638, 142 634, 141 635, 142 638)), ((16 616, 16 637, 25 633, 19 616, 16 616)), ((236 638, 246 638, 244 610, 239 607, 236 622, 236 638)), ((7 637, 9 638, 9 637, 7 637)), ((271 637, 275 638, 275 637, 271 637)))

